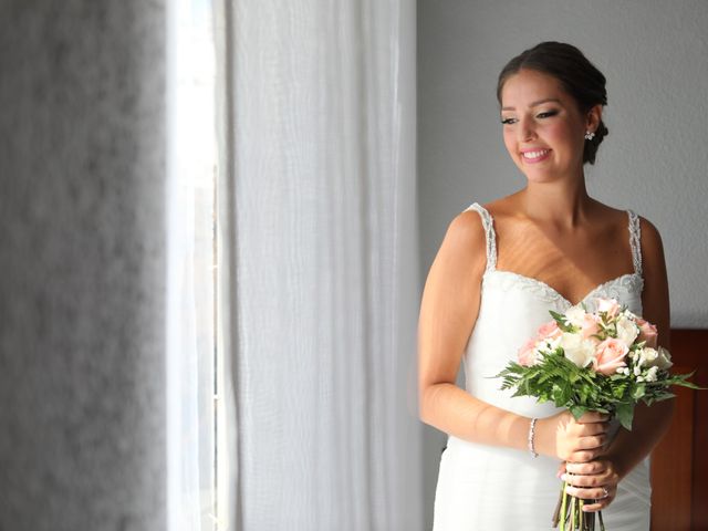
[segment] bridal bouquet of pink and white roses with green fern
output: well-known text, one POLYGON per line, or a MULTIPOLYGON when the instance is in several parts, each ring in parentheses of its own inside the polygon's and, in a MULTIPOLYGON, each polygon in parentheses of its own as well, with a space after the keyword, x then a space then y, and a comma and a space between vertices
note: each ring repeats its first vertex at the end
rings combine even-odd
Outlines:
MULTIPOLYGON (((671 398, 671 385, 699 388, 687 382, 691 374, 671 375, 671 356, 657 345, 656 326, 621 306, 614 299, 597 299, 597 310, 589 313, 584 305, 570 308, 564 314, 551 311, 534 337, 519 351, 497 375, 501 388, 516 388, 513 396, 533 396, 570 409, 577 419, 587 412, 616 418, 632 429, 634 407, 644 402, 671 398)), ((561 530, 595 529, 595 517, 584 512, 583 500, 565 493, 553 518, 561 530), (570 528, 566 528, 570 524, 570 528)), ((597 512, 604 530, 602 511, 597 512)))

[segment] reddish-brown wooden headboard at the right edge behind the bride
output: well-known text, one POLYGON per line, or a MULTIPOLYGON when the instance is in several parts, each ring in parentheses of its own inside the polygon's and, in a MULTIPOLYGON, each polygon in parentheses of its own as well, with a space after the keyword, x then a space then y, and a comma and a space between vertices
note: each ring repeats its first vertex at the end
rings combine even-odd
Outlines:
MULTIPOLYGON (((708 330, 671 330, 676 373, 708 387, 708 330)), ((652 531, 708 530, 708 391, 679 387, 671 426, 652 454, 652 531)))

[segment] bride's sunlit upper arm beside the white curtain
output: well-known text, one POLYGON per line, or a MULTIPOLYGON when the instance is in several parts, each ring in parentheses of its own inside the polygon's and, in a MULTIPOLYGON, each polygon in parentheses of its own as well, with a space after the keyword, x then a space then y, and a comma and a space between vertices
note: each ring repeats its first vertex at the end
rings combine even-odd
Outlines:
POLYGON ((487 263, 485 230, 475 211, 449 225, 425 283, 418 320, 418 388, 455 383, 477 320, 487 263))

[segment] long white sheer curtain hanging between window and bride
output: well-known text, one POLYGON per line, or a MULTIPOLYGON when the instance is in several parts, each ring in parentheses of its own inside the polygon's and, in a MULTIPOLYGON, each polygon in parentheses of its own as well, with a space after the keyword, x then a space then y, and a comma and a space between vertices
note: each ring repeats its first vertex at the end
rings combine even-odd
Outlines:
POLYGON ((225 0, 238 529, 423 529, 413 0, 225 0))

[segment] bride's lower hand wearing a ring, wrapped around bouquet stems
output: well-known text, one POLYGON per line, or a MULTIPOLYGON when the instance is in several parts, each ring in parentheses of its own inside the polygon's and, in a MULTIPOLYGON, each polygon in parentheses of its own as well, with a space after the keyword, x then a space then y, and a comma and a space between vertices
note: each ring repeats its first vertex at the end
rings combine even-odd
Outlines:
POLYGON ((605 509, 617 496, 620 475, 608 459, 591 462, 565 462, 559 470, 561 479, 568 483, 565 492, 583 500, 593 500, 583 511, 595 512, 605 509))

